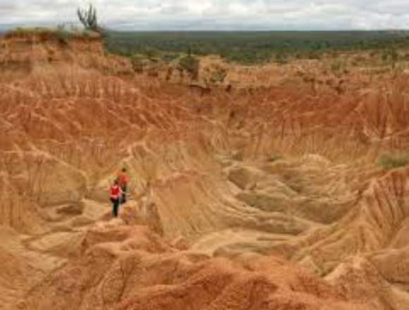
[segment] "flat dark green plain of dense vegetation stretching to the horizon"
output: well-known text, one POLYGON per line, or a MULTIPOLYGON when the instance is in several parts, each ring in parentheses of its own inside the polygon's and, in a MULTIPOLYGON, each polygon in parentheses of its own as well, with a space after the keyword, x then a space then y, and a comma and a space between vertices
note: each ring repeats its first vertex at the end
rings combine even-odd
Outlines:
MULTIPOLYGON (((152 54, 176 58, 191 51, 196 55, 220 55, 227 61, 285 63, 288 57, 319 58, 328 51, 396 49, 408 47, 408 32, 109 32, 106 48, 115 54, 152 54)), ((165 59, 166 60, 166 59, 165 59)))

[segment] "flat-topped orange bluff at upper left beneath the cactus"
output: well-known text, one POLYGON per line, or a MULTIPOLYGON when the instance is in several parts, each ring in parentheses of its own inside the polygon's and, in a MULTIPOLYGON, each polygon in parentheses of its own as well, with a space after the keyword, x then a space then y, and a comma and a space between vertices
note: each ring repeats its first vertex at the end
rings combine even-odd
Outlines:
POLYGON ((97 34, 28 29, 9 32, 0 39, 3 78, 23 78, 27 74, 45 77, 50 71, 73 67, 109 70, 112 74, 132 72, 128 61, 105 55, 102 38, 97 34))

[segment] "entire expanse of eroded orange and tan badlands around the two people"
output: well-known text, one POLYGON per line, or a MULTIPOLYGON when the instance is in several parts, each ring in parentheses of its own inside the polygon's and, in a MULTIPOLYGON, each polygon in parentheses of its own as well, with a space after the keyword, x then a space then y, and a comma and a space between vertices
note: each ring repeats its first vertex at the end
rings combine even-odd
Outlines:
POLYGON ((0 309, 409 309, 408 74, 212 66, 0 39, 0 309))

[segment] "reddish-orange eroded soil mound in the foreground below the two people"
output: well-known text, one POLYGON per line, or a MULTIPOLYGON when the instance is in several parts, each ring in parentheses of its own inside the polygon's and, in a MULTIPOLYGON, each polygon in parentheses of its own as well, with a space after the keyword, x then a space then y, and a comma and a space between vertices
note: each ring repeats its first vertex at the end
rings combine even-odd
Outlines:
POLYGON ((85 244, 18 309, 370 309, 274 257, 209 259, 126 226, 92 229, 85 244))

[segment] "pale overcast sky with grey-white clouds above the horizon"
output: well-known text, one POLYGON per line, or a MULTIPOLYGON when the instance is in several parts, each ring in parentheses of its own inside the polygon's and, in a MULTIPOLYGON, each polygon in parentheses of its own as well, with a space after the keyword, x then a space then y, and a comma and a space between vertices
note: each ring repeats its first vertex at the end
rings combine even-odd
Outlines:
MULTIPOLYGON (((75 21, 84 0, 0 0, 0 27, 75 21)), ((408 29, 409 0, 94 0, 123 30, 408 29)))

